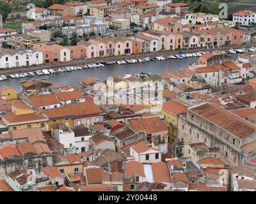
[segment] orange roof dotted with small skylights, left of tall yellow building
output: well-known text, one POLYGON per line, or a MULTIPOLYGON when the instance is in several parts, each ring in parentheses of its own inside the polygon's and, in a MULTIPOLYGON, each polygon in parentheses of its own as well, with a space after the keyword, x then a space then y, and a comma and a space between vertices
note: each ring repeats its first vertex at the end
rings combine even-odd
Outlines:
POLYGON ((166 131, 166 128, 159 117, 131 119, 129 122, 135 131, 145 131, 146 134, 166 131))

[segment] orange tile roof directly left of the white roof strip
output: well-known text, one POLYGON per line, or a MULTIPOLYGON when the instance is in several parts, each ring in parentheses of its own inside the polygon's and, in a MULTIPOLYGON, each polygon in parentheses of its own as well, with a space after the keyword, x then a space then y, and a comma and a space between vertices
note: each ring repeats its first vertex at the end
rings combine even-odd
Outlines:
POLYGON ((133 177, 134 175, 145 178, 143 163, 138 161, 127 161, 124 164, 124 175, 126 178, 133 177))

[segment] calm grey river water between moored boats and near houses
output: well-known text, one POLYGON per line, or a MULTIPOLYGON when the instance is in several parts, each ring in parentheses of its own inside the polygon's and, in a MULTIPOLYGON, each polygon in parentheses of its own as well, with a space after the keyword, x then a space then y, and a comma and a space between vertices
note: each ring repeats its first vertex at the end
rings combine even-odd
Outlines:
MULTIPOLYGON (((237 59, 237 55, 232 55, 232 59, 237 59)), ((77 83, 85 77, 96 77, 100 80, 105 80, 109 76, 123 76, 131 73, 164 73, 169 71, 177 71, 180 68, 187 68, 189 64, 196 62, 198 57, 190 57, 184 59, 170 59, 166 61, 149 61, 149 62, 138 62, 136 64, 109 64, 100 68, 93 69, 82 69, 77 71, 63 71, 57 74, 42 75, 35 77, 25 77, 19 79, 8 78, 6 81, 1 81, 0 86, 10 85, 20 92, 20 82, 25 80, 31 80, 35 78, 46 78, 49 82, 54 84, 69 85, 77 83)))

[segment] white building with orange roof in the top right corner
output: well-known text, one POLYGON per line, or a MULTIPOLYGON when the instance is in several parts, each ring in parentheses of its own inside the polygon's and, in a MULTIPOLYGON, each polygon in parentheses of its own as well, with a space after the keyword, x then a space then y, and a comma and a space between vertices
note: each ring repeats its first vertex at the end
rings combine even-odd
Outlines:
POLYGON ((239 25, 252 25, 256 23, 256 13, 250 10, 233 13, 233 21, 239 25))

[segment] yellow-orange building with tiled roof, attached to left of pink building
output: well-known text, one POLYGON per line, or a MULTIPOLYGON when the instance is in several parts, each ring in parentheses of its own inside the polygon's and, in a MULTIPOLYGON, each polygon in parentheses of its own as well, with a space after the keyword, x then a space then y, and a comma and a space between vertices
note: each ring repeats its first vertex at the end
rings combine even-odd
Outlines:
POLYGON ((68 106, 45 109, 42 114, 49 119, 49 131, 51 130, 51 126, 54 123, 63 123, 67 124, 70 128, 74 128, 74 122, 72 119, 74 115, 71 112, 70 108, 68 108, 68 106))

